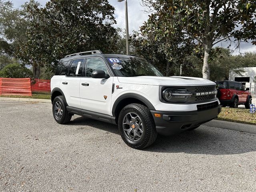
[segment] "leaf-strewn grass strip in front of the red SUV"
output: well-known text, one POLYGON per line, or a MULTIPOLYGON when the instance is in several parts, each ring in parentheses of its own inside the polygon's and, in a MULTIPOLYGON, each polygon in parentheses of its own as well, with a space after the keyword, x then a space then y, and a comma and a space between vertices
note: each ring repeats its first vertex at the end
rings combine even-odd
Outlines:
POLYGON ((244 124, 256 125, 256 113, 250 113, 250 109, 223 107, 217 120, 231 121, 244 124))

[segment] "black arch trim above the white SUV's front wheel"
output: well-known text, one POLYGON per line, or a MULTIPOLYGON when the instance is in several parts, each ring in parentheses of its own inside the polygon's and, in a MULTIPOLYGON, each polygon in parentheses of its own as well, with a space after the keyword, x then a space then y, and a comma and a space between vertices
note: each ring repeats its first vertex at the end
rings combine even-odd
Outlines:
POLYGON ((136 94, 136 93, 126 93, 123 94, 121 96, 119 96, 116 101, 114 102, 113 108, 112 108, 112 116, 115 116, 115 111, 116 108, 118 107, 118 104, 126 99, 126 98, 134 98, 137 100, 140 100, 141 102, 143 102, 150 110, 156 110, 154 108, 154 106, 151 104, 151 102, 149 100, 147 100, 144 96, 141 96, 140 94, 136 94))

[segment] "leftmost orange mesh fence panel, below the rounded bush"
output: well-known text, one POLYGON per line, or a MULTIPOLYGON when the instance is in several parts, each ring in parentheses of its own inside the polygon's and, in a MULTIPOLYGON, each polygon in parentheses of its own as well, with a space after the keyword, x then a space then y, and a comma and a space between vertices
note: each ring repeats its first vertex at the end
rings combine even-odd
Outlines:
POLYGON ((32 96, 30 78, 0 78, 0 95, 32 96))

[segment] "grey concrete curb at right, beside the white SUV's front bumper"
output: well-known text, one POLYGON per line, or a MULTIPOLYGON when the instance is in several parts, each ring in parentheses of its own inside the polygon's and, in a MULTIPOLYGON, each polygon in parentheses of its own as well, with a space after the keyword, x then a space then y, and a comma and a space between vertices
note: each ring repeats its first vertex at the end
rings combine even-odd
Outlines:
POLYGON ((249 124, 242 124, 242 123, 235 123, 235 122, 221 121, 221 120, 212 120, 203 125, 256 134, 256 125, 249 125, 249 124))

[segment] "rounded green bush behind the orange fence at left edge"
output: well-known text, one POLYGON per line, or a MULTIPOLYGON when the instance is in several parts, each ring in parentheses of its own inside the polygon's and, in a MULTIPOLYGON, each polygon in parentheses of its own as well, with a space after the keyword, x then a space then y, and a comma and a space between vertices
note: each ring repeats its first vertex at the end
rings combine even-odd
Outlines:
POLYGON ((4 78, 31 78, 31 70, 20 64, 9 64, 0 71, 0 77, 4 78))

